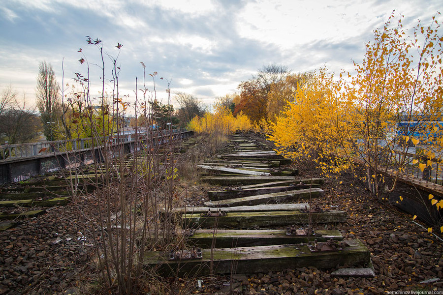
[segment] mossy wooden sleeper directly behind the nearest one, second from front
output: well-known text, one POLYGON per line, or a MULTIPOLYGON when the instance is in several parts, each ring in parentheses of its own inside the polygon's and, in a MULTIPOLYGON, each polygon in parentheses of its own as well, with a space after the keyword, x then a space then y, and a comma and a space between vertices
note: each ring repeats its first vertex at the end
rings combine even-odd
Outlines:
POLYGON ((286 236, 285 230, 197 230, 193 236, 188 237, 192 245, 201 248, 251 247, 266 245, 283 245, 295 243, 318 242, 329 239, 343 240, 339 231, 316 231, 316 236, 286 236))

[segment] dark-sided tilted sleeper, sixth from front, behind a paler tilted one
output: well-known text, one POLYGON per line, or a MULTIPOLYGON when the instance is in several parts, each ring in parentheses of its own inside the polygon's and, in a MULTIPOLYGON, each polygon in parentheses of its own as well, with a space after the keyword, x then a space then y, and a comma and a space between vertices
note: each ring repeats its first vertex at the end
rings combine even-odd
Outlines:
POLYGON ((287 192, 297 189, 306 189, 310 187, 319 187, 319 184, 294 184, 284 186, 270 186, 259 188, 247 188, 247 189, 230 189, 222 191, 209 191, 208 197, 211 201, 225 200, 230 198, 249 197, 263 194, 271 194, 278 192, 287 192))

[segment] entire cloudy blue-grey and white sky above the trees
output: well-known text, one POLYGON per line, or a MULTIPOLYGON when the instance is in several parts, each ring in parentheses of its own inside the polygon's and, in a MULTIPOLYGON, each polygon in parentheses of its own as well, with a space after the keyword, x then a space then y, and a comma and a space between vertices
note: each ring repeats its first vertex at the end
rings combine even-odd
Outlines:
MULTIPOLYGON (((293 72, 352 70, 361 61, 373 30, 395 9, 405 27, 423 24, 441 0, 5 0, 0 7, 0 87, 11 85, 34 103, 38 63, 50 62, 64 85, 75 72, 86 73, 78 59, 83 48, 99 89, 100 62, 86 36, 103 41, 104 52, 118 58, 121 93, 134 100, 135 78, 158 72, 171 90, 184 91, 210 104, 233 93, 241 81, 270 63, 293 72)), ((439 17, 441 19, 441 17, 439 17)), ((105 80, 112 63, 105 56, 105 80)), ((152 81, 146 82, 148 89, 152 81)), ((167 85, 158 80, 165 98, 167 85)), ((140 88, 140 87, 139 87, 140 88)))

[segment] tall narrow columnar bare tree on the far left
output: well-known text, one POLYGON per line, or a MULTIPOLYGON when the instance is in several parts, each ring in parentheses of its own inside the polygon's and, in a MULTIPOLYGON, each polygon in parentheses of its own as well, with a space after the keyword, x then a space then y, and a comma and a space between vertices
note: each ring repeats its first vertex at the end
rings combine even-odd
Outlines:
POLYGON ((41 114, 44 135, 48 140, 54 140, 57 132, 57 120, 62 115, 62 106, 59 97, 59 87, 51 63, 41 61, 38 64, 37 108, 41 114))

